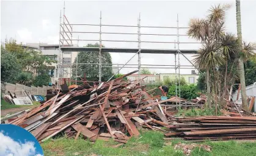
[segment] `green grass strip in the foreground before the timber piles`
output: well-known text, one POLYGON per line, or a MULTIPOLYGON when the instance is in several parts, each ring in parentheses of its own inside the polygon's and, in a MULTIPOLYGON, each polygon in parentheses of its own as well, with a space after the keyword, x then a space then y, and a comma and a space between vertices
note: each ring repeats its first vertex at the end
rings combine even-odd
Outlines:
MULTIPOLYGON (((172 143, 163 140, 163 133, 146 131, 139 138, 131 138, 128 143, 120 147, 112 147, 119 144, 115 141, 97 140, 94 144, 90 141, 79 138, 78 140, 57 138, 56 140, 47 140, 42 143, 45 155, 180 155, 181 150, 175 150, 174 146, 181 140, 174 140, 172 143)), ((190 144, 188 141, 181 141, 190 144)), ((246 143, 238 141, 206 141, 200 144, 208 144, 212 147, 211 152, 198 147, 193 149, 191 155, 221 155, 221 156, 241 156, 256 155, 256 143, 246 143)))

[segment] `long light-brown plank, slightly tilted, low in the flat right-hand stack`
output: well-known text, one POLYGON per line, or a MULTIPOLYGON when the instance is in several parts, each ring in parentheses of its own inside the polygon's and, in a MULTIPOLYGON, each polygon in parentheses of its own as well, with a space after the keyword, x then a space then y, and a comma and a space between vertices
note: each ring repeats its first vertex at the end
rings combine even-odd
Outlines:
POLYGON ((196 132, 184 132, 184 134, 185 135, 207 135, 207 134, 240 133, 240 132, 254 132, 254 131, 256 131, 256 128, 200 130, 200 131, 196 131, 196 132))

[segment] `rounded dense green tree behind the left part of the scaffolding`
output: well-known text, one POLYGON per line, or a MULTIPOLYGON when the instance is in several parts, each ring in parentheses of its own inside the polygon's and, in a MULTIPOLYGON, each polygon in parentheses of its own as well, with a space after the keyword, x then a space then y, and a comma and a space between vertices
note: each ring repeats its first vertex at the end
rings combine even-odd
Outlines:
MULTIPOLYGON (((86 47, 100 47, 100 44, 87 44, 86 47)), ((103 46, 104 47, 104 46, 103 46)), ((79 52, 78 56, 76 57, 78 59, 78 63, 94 63, 91 65, 79 65, 77 66, 77 75, 80 77, 84 76, 84 73, 86 73, 86 79, 91 81, 98 81, 98 69, 99 69, 99 52, 79 52)), ((75 59, 75 62, 76 62, 75 59)), ((101 71, 101 80, 107 81, 112 76, 112 60, 111 55, 109 52, 101 52, 101 63, 103 67, 101 71)), ((72 75, 73 79, 76 76, 76 65, 72 66, 72 75)))

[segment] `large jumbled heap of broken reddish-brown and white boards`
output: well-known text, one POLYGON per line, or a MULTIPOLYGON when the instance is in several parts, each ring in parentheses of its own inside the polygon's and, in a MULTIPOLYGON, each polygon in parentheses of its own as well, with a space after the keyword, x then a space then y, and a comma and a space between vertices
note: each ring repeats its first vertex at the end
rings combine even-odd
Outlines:
POLYGON ((167 126, 171 116, 142 91, 139 83, 143 79, 130 81, 123 77, 81 90, 75 87, 67 93, 58 90, 42 105, 9 119, 9 124, 23 127, 38 141, 65 133, 68 138, 82 135, 91 141, 113 138, 120 143, 139 136, 142 126, 153 130, 167 126))

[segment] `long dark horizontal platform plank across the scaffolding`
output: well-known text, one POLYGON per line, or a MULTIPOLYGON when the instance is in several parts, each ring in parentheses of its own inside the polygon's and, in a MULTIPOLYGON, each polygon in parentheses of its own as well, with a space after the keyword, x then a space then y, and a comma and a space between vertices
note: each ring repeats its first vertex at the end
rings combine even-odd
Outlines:
MULTIPOLYGON (((97 52, 99 48, 94 47, 70 47, 65 46, 60 48, 62 51, 90 51, 97 52)), ((122 53, 136 53, 139 49, 132 48, 101 48, 101 52, 122 52, 122 53)), ((197 54, 197 50, 180 50, 183 54, 197 54)), ((141 53, 148 54, 175 54, 177 50, 175 49, 141 49, 141 53)))

